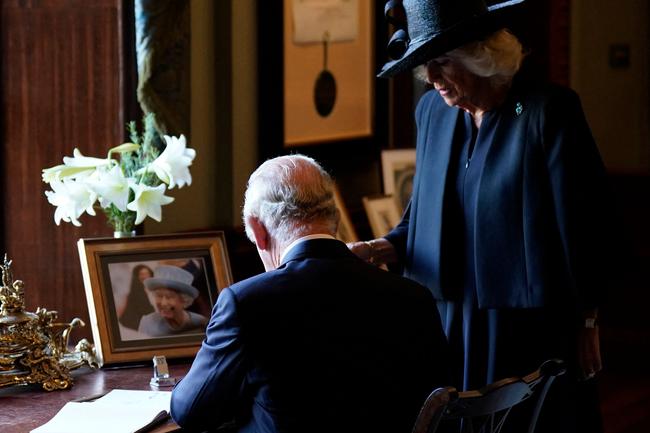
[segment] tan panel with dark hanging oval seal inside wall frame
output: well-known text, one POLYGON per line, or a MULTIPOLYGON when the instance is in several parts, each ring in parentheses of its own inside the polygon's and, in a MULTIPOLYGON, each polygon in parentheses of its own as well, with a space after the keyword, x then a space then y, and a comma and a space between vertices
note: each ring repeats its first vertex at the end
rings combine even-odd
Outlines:
POLYGON ((372 0, 284 1, 284 146, 373 133, 372 0))

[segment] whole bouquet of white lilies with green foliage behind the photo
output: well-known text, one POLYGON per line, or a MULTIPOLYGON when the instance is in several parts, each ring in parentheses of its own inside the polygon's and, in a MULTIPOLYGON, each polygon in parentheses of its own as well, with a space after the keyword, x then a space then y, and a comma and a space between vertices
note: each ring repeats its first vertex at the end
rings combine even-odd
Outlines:
POLYGON ((138 132, 136 123, 130 122, 133 142, 110 148, 105 158, 85 156, 75 148, 63 164, 42 170, 43 181, 52 188, 45 195, 56 208, 57 225, 64 221, 80 226, 79 217, 84 212, 95 215, 98 201, 97 208, 117 231, 130 231, 148 216, 162 220, 162 206, 174 201, 165 195, 167 188, 192 183, 189 167, 196 151, 187 148, 183 135, 163 136, 166 147, 161 153, 153 144, 160 136, 152 113, 143 117, 142 126, 138 132), (135 198, 129 202, 131 191, 135 198))

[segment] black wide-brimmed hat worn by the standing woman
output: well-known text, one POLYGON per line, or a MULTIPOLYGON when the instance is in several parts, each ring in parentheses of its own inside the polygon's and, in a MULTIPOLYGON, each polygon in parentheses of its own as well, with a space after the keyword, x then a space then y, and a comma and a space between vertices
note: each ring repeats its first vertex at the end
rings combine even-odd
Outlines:
MULTIPOLYGON (((487 6, 484 0, 403 0, 389 1, 386 15, 402 3, 405 29, 391 43, 394 59, 384 65, 378 77, 388 78, 412 69, 466 43, 480 40, 504 27, 506 10, 525 0, 509 0, 487 6), (397 39, 397 41, 395 40, 397 39), (397 53, 395 52, 397 51, 397 53), (401 51, 401 52, 400 52, 401 51)), ((399 27, 397 20, 391 20, 399 27)))

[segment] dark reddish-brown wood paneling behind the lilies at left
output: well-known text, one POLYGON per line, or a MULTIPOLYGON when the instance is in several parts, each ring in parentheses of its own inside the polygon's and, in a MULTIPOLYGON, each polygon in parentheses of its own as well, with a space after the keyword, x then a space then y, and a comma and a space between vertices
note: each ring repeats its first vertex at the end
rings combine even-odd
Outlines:
POLYGON ((90 336, 77 240, 112 232, 103 215, 82 227, 53 220, 41 169, 78 147, 105 155, 124 139, 124 0, 3 0, 0 142, 3 248, 26 304, 80 317, 90 336))

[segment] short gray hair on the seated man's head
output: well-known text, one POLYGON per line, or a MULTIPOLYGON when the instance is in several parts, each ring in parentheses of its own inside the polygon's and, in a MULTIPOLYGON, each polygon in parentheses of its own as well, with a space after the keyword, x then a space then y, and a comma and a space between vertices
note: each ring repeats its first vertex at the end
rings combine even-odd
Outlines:
POLYGON ((334 181, 307 156, 270 159, 251 174, 244 199, 244 227, 254 242, 248 217, 258 218, 281 243, 305 235, 314 225, 324 225, 334 234, 339 221, 334 181))

